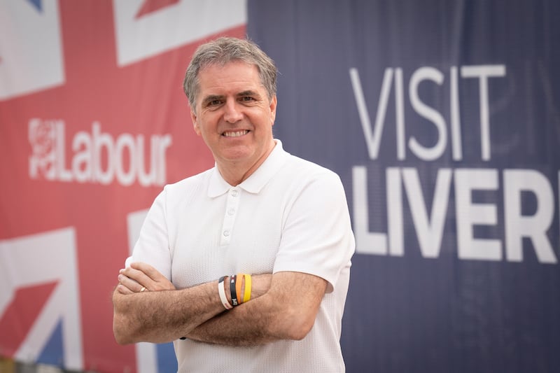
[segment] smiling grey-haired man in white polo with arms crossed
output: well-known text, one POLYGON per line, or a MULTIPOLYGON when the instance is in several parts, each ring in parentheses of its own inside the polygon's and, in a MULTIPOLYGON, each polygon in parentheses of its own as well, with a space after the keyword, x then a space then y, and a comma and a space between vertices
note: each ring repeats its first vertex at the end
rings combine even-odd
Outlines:
POLYGON ((272 136, 276 66, 254 43, 201 45, 184 88, 216 166, 155 199, 113 293, 117 342, 173 341, 179 372, 344 372, 339 177, 272 136))

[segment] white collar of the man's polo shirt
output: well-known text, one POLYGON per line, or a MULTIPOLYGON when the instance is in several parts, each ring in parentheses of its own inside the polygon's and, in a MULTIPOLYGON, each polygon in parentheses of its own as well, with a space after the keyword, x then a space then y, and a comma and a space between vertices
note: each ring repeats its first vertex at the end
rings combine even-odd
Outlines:
MULTIPOLYGON (((270 152, 265 162, 262 162, 260 167, 258 167, 251 176, 239 184, 239 188, 249 193, 258 194, 272 176, 282 167, 284 162, 286 162, 290 154, 286 152, 286 150, 283 150, 280 140, 274 139, 274 142, 276 142, 276 146, 274 146, 274 149, 272 149, 272 152, 270 152)), ((225 192, 228 192, 230 188, 233 188, 233 186, 223 179, 218 168, 214 166, 208 185, 208 197, 214 198, 223 195, 225 192)))

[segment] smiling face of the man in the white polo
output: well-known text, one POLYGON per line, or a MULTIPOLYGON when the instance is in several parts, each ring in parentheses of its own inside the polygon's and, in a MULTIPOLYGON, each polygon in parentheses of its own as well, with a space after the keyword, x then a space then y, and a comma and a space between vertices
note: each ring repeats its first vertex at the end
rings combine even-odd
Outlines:
POLYGON ((210 148, 218 167, 260 164, 274 147, 276 97, 268 99, 256 66, 234 61, 210 65, 199 74, 195 132, 210 148))

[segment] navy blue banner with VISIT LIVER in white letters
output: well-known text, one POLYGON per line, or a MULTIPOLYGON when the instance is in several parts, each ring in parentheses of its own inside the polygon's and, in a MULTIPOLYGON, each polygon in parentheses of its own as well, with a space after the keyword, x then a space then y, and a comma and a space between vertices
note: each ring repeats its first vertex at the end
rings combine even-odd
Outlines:
POLYGON ((336 171, 348 372, 560 369, 560 3, 248 1, 275 136, 336 171))

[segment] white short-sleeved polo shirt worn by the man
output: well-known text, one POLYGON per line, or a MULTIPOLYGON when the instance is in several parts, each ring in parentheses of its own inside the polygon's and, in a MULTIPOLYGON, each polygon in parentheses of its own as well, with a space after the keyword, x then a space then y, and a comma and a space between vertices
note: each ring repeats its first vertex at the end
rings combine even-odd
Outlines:
POLYGON ((344 372, 339 339, 354 252, 344 188, 275 141, 237 186, 216 167, 166 185, 127 262, 153 265, 176 288, 239 272, 314 274, 328 281, 314 327, 301 341, 251 348, 179 340, 179 372, 344 372))

